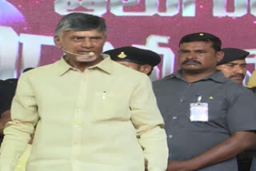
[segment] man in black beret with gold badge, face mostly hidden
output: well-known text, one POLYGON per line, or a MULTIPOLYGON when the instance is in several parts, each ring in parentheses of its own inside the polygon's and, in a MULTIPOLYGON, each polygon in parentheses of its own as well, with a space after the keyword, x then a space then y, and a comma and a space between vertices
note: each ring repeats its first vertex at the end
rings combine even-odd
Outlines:
POLYGON ((157 53, 133 46, 107 50, 103 54, 109 54, 112 60, 147 75, 150 75, 154 66, 161 62, 161 57, 157 53))

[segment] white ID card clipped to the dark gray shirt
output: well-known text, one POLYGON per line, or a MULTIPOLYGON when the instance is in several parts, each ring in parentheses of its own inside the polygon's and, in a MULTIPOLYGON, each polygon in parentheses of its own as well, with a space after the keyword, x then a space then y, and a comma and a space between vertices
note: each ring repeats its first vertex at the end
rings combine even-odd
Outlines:
POLYGON ((190 103, 190 121, 208 121, 208 103, 190 103))

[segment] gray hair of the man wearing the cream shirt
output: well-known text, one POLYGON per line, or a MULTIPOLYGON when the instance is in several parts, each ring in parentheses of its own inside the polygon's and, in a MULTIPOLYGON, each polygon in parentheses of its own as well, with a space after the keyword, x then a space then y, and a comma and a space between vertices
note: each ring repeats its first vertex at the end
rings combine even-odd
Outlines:
POLYGON ((105 19, 84 13, 71 13, 65 15, 59 22, 55 29, 55 36, 60 36, 64 31, 84 31, 94 30, 106 34, 106 23, 105 19))

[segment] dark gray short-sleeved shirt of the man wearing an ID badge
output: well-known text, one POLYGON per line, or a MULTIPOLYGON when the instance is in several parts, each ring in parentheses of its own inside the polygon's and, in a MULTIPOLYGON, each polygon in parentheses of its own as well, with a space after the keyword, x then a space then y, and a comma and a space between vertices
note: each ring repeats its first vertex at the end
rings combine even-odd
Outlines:
MULTIPOLYGON (((158 107, 166 123, 169 160, 196 157, 230 137, 256 130, 256 96, 217 71, 198 82, 186 82, 181 71, 153 83, 158 107), (190 121, 190 103, 208 103, 208 121, 190 121)), ((235 171, 235 158, 200 169, 235 171)))

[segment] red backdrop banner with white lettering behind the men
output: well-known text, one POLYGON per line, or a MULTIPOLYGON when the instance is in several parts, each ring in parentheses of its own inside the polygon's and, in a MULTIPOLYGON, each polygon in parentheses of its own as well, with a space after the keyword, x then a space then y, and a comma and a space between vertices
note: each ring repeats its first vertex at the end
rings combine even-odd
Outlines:
POLYGON ((54 46, 54 29, 72 12, 106 19, 104 50, 137 46, 160 54, 152 80, 179 69, 178 42, 195 32, 250 51, 247 78, 255 70, 256 0, 0 0, 0 78, 57 61, 62 51, 54 46))

